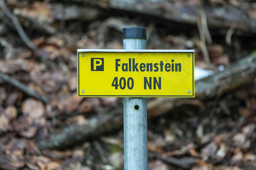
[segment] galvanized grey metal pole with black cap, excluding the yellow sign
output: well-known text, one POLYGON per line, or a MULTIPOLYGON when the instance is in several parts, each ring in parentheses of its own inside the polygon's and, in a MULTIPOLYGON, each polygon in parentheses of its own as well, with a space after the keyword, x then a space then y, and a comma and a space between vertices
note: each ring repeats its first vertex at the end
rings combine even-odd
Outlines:
MULTIPOLYGON (((144 27, 123 28, 123 49, 146 49, 144 27)), ((147 98, 124 98, 124 170, 148 169, 147 98)))

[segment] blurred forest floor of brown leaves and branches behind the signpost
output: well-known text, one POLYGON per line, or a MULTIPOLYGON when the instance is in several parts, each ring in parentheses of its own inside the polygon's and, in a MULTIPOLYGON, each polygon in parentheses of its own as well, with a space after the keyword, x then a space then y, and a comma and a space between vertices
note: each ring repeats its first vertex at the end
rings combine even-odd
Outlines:
POLYGON ((0 169, 123 167, 122 98, 78 98, 76 49, 195 49, 196 98, 148 98, 148 169, 256 169, 256 2, 0 0, 0 169))

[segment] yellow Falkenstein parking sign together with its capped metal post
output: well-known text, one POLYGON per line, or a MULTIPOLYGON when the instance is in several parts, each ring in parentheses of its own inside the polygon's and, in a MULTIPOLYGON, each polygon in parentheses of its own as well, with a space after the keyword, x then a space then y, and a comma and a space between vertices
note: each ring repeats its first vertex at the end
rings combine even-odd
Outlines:
POLYGON ((77 49, 77 95, 124 97, 124 169, 146 170, 146 97, 195 97, 194 50, 146 50, 146 28, 123 28, 123 50, 77 49))

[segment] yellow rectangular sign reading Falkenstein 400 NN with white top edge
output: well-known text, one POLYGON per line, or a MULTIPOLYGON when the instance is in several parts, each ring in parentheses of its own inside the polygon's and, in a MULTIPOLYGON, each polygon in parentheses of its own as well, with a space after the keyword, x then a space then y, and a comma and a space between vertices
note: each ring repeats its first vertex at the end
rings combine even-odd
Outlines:
POLYGON ((79 97, 195 97, 194 50, 77 50, 79 97))

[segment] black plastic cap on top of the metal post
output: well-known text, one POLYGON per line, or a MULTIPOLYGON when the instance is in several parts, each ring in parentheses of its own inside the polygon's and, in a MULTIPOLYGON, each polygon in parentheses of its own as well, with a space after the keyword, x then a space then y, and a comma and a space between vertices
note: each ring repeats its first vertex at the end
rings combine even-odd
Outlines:
POLYGON ((124 27, 122 30, 123 39, 125 38, 139 38, 147 40, 147 29, 140 26, 124 27))

